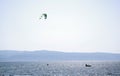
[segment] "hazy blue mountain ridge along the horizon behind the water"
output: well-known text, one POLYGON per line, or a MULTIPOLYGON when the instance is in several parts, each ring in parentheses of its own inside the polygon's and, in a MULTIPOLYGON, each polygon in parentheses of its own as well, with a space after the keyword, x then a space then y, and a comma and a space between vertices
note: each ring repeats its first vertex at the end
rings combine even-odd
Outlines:
POLYGON ((65 53, 47 50, 0 50, 0 62, 4 61, 60 61, 60 60, 120 60, 114 53, 65 53))

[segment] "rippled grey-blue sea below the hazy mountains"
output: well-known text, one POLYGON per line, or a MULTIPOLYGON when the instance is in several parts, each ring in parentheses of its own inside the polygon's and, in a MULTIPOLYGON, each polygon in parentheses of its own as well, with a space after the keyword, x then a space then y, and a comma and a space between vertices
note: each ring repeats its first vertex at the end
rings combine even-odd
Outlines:
POLYGON ((120 76, 120 61, 0 62, 0 76, 120 76))

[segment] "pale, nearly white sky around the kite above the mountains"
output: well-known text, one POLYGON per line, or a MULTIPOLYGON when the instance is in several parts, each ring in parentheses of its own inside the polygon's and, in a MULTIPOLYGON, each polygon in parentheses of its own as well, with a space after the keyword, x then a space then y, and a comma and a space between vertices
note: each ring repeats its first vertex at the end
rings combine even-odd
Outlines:
POLYGON ((0 0, 0 11, 0 50, 120 53, 120 0, 0 0))

